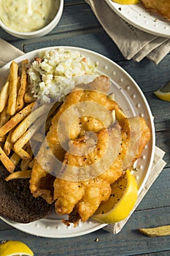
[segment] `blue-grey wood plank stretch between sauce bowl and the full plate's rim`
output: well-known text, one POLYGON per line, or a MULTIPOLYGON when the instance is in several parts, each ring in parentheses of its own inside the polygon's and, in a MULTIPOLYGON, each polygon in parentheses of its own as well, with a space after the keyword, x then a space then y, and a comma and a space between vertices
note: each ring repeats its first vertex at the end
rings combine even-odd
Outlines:
POLYGON ((87 48, 88 50, 101 53, 108 58, 113 56, 115 61, 124 59, 115 43, 112 42, 112 39, 110 39, 107 33, 101 28, 69 31, 68 33, 64 34, 49 34, 48 36, 42 37, 41 39, 31 39, 24 42, 19 40, 18 42, 12 42, 12 44, 22 49, 24 53, 28 53, 31 50, 44 47, 68 45, 87 48), (85 41, 88 42, 86 46, 85 41))

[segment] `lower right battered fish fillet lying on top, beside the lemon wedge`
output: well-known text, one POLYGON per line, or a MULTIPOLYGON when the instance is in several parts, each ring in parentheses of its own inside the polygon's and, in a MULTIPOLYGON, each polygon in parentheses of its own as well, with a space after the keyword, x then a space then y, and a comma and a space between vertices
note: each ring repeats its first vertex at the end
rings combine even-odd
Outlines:
MULTIPOLYGON (((150 140, 150 129, 143 118, 121 118, 119 124, 121 128, 118 130, 114 127, 109 130, 101 129, 98 132, 98 143, 92 153, 85 156, 77 156, 69 152, 65 154, 63 163, 66 165, 61 169, 62 176, 55 178, 54 182, 54 199, 56 212, 69 214, 69 219, 64 221, 66 225, 69 225, 69 222, 76 224, 79 219, 85 222, 95 213, 101 202, 108 200, 111 192, 110 185, 120 178, 123 170, 131 167, 150 140), (140 129, 141 132, 139 132, 140 129), (136 134, 139 134, 139 138, 136 134), (112 158, 112 155, 109 154, 109 148, 107 157, 102 162, 101 159, 108 148, 108 139, 112 148, 115 148, 115 156, 117 157, 112 158), (129 150, 131 141, 133 141, 134 146, 129 150), (125 161, 126 158, 130 158, 131 161, 125 161), (112 163, 109 162, 107 165, 109 159, 112 159, 112 163), (85 181, 69 181, 68 177, 69 175, 72 176, 73 172, 72 166, 80 167, 79 174, 82 175, 82 167, 93 165, 96 161, 101 161, 101 166, 96 166, 103 168, 100 175, 97 175, 98 172, 96 171, 94 178, 85 181)), ((73 143, 81 148, 82 144, 85 143, 85 138, 78 138, 73 143)), ((93 166, 94 170, 95 167, 93 166)))

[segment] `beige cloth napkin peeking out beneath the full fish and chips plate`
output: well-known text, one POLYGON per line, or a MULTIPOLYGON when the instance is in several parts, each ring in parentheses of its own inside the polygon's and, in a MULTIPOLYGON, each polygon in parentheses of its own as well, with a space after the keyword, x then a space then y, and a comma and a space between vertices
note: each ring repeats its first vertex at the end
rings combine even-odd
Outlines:
MULTIPOLYGON (((24 54, 21 50, 10 45, 3 39, 0 39, 0 49, 3 49, 0 50, 0 67, 4 64, 7 64, 7 62, 11 61, 12 59, 15 59, 18 56, 24 54)), ((136 202, 136 206, 134 206, 134 209, 133 211, 131 211, 131 214, 134 212, 134 210, 139 205, 144 195, 147 193, 148 189, 150 189, 152 183, 155 181, 155 179, 161 173, 161 170, 163 170, 163 167, 166 165, 166 162, 163 161, 164 154, 165 153, 160 148, 155 148, 155 157, 152 165, 152 170, 150 171, 150 176, 148 177, 144 189, 142 189, 142 192, 140 193, 138 200, 136 202)), ((131 214, 129 217, 131 217, 131 214)), ((128 221, 129 217, 123 220, 122 222, 117 222, 116 224, 113 225, 107 225, 106 227, 104 227, 104 230, 107 230, 112 233, 120 232, 125 223, 128 221)))

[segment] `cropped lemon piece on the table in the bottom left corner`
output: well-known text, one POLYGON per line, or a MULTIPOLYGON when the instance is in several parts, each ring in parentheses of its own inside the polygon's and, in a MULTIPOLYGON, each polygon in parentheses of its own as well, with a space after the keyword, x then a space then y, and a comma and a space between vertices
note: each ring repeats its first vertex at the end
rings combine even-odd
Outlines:
POLYGON ((29 247, 20 241, 5 241, 0 244, 1 256, 34 256, 29 247))

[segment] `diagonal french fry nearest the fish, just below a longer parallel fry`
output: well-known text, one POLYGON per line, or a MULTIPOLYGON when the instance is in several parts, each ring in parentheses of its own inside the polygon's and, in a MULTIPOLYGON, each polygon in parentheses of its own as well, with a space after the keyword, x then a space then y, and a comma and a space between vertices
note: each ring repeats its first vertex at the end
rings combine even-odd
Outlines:
POLYGON ((45 115, 40 116, 36 122, 17 140, 14 144, 15 151, 20 151, 24 145, 32 138, 34 133, 42 126, 45 122, 45 115))

